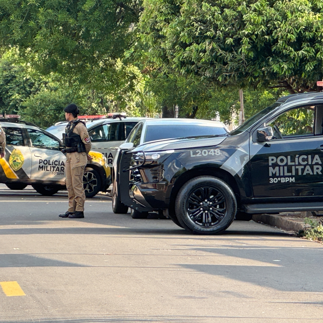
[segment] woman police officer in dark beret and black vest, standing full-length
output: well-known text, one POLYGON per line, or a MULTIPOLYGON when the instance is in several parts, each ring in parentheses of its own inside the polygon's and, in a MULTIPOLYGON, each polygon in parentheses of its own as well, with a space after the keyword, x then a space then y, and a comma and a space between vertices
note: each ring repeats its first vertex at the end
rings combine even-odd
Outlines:
POLYGON ((69 104, 65 109, 68 125, 63 134, 66 153, 66 188, 68 190, 68 210, 59 214, 60 218, 84 218, 85 192, 83 188, 83 173, 91 149, 88 130, 83 121, 78 120, 79 109, 75 104, 69 104))

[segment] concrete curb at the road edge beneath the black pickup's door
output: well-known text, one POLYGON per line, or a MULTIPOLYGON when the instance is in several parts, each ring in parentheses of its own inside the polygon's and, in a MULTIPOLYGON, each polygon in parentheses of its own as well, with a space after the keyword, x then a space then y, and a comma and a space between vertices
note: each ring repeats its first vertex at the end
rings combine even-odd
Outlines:
POLYGON ((262 222, 265 224, 270 224, 276 226, 277 228, 298 232, 299 230, 304 230, 307 225, 302 221, 302 219, 297 219, 292 216, 279 215, 279 214, 254 214, 252 216, 253 221, 262 222))

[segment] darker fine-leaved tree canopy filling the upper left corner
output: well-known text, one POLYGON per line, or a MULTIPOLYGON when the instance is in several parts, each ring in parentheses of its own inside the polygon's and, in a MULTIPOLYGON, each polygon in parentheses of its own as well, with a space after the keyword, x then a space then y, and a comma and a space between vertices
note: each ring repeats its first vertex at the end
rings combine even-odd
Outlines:
POLYGON ((0 48, 18 47, 42 74, 106 89, 133 41, 139 6, 136 0, 0 0, 0 48))

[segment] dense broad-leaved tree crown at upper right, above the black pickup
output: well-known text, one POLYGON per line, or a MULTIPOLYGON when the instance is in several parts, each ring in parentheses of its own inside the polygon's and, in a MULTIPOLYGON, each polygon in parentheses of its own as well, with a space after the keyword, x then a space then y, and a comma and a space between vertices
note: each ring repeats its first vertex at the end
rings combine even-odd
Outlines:
POLYGON ((274 83, 290 93, 322 79, 320 0, 144 0, 141 39, 155 68, 218 86, 274 83))

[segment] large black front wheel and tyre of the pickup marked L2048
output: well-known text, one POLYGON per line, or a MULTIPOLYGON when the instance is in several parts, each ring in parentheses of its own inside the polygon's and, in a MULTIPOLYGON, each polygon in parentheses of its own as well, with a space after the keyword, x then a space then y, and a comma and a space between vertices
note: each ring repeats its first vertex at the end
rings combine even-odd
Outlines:
POLYGON ((217 234, 229 227, 237 210, 230 186, 213 176, 198 176, 180 189, 175 212, 187 231, 217 234))

